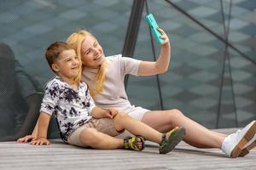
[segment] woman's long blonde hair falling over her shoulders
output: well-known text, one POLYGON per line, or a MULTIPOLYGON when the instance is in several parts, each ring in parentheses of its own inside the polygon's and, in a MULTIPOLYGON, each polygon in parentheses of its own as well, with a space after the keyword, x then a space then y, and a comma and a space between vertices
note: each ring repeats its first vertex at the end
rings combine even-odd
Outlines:
MULTIPOLYGON (((78 55, 80 61, 82 62, 82 43, 84 42, 84 39, 86 37, 93 37, 88 31, 80 30, 80 31, 75 31, 73 34, 71 34, 67 38, 67 43, 76 51, 76 54, 78 55)), ((96 39, 96 38, 95 38, 96 39)), ((81 78, 82 71, 84 71, 84 65, 82 65, 82 69, 79 71, 79 75, 76 77, 77 80, 81 78)), ((96 94, 100 94, 103 91, 103 83, 105 81, 106 77, 106 62, 104 61, 102 65, 100 65, 100 69, 97 72, 96 75, 96 84, 95 87, 92 88, 90 87, 90 94, 92 97, 95 97, 96 94)))

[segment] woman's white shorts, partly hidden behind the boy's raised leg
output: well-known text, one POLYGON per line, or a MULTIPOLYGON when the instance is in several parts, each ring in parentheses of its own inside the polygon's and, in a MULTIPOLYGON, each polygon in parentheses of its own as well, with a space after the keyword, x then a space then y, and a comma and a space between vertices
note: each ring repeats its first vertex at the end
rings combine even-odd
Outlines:
MULTIPOLYGON (((143 119, 144 114, 147 113, 148 111, 149 111, 149 110, 144 109, 143 107, 135 107, 135 106, 133 106, 133 107, 131 108, 131 110, 129 110, 129 111, 124 111, 124 113, 127 113, 129 116, 131 116, 131 117, 133 117, 133 118, 135 118, 135 119, 137 119, 138 121, 141 122, 142 119, 143 119)), ((131 133, 129 133, 127 130, 125 130, 124 133, 120 133, 120 134, 119 134, 118 136, 116 136, 116 137, 123 139, 123 138, 125 138, 125 137, 127 137, 127 136, 133 136, 133 134, 131 134, 131 133)))

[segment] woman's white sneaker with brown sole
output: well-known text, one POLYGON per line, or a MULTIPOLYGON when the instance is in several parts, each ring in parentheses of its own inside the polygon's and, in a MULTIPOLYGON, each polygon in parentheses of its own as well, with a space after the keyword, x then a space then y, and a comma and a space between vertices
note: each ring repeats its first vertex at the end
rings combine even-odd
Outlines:
POLYGON ((253 137, 256 133, 256 121, 250 122, 246 127, 237 130, 224 139, 221 150, 227 156, 237 157, 241 154, 241 150, 245 149, 249 143, 253 144, 253 137))

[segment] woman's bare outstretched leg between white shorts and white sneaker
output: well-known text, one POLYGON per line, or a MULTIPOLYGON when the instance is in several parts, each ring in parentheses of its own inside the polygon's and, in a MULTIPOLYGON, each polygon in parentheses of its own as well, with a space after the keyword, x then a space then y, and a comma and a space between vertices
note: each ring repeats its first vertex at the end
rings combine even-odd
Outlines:
POLYGON ((184 127, 186 135, 184 141, 198 148, 221 148, 225 135, 213 132, 199 123, 184 116, 181 111, 149 111, 145 113, 142 122, 161 133, 174 128, 184 127))

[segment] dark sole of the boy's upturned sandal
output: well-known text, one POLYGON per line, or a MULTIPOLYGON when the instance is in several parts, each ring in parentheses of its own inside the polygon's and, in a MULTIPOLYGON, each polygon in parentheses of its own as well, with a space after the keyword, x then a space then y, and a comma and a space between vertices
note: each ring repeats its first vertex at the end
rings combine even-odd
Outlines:
POLYGON ((160 150, 160 154, 166 154, 173 150, 175 146, 180 143, 180 141, 183 140, 183 137, 185 136, 185 128, 184 127, 178 127, 176 133, 174 133, 171 137, 168 139, 168 146, 166 146, 165 149, 160 150))

